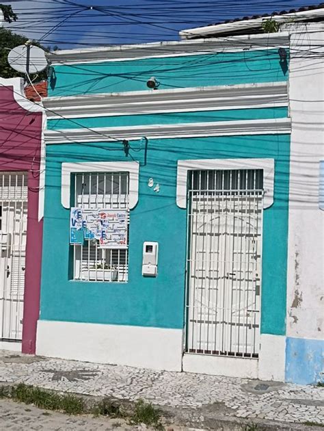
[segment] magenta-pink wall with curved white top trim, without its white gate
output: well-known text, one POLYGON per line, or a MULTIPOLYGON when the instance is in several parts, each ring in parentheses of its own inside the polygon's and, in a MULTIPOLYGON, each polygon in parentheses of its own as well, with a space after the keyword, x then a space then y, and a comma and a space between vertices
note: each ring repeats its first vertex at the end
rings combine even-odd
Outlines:
POLYGON ((0 78, 0 172, 28 172, 27 245, 22 351, 36 349, 40 303, 42 220, 39 221, 42 107, 23 96, 21 78, 0 78))

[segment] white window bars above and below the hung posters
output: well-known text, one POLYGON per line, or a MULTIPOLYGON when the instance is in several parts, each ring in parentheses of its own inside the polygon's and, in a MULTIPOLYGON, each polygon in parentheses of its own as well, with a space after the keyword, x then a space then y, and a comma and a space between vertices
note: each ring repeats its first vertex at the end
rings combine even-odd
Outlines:
MULTIPOLYGON (((75 174, 75 207, 129 211, 129 174, 126 172, 75 174)), ((129 214, 129 212, 128 212, 129 214)), ((128 215, 129 219, 129 215, 128 215)), ((100 248, 96 239, 73 245, 75 280, 126 282, 127 248, 100 248)))

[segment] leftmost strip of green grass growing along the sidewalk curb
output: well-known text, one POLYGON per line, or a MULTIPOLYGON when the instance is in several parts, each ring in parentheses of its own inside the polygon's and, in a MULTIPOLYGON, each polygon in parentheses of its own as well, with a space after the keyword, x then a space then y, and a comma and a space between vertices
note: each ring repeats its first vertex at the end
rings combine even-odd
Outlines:
POLYGON ((80 415, 85 411, 84 402, 80 397, 59 395, 24 383, 12 389, 12 399, 46 410, 60 410, 68 415, 80 415))

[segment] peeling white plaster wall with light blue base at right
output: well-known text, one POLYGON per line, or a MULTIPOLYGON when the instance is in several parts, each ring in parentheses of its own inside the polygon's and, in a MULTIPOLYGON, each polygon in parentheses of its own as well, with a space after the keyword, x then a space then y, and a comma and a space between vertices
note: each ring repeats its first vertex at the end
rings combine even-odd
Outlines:
POLYGON ((286 379, 301 383, 323 378, 324 350, 324 211, 319 209, 319 161, 324 159, 324 34, 310 30, 291 29, 289 81, 287 337, 291 339, 287 340, 286 379))

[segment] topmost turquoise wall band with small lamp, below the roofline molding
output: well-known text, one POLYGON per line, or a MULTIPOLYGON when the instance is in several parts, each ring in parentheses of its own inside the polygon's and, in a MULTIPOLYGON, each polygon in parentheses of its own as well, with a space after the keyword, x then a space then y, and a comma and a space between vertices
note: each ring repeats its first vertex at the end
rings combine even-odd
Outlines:
POLYGON ((148 90, 146 81, 152 76, 163 90, 287 79, 278 49, 219 52, 55 66, 49 96, 148 90))

